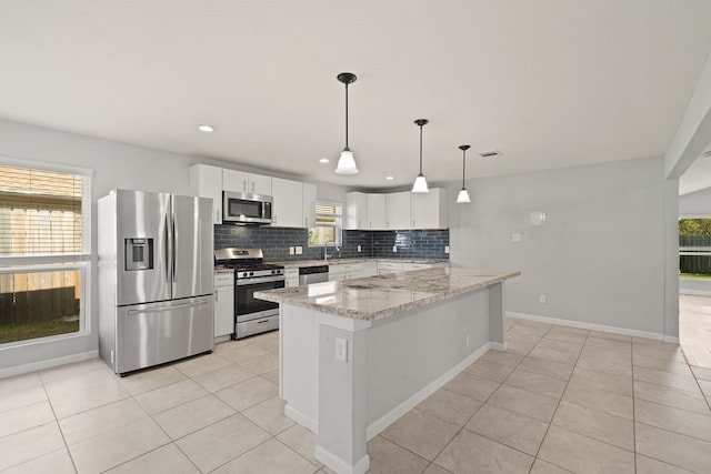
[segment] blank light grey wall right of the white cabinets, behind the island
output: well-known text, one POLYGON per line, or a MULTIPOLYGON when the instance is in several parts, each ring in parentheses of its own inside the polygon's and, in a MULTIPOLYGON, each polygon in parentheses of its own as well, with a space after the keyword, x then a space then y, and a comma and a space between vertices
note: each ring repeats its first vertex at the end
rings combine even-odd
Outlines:
POLYGON ((654 158, 470 180, 472 202, 450 204, 451 262, 520 270, 509 312, 677 336, 677 181, 663 172, 654 158))

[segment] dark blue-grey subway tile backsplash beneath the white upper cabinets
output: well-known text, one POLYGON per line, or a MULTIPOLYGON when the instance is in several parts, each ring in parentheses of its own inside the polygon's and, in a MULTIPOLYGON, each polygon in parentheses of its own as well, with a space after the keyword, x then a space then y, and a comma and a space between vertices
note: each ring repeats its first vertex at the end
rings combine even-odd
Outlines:
MULTIPOLYGON (((216 225, 214 248, 262 249, 266 262, 323 259, 323 248, 309 248, 308 229, 258 225, 216 225), (290 255, 290 246, 301 246, 301 255, 290 255)), ((341 258, 441 259, 448 260, 449 230, 343 231, 341 258), (358 245, 361 251, 358 252, 358 245), (393 246, 398 249, 393 252, 393 246)))

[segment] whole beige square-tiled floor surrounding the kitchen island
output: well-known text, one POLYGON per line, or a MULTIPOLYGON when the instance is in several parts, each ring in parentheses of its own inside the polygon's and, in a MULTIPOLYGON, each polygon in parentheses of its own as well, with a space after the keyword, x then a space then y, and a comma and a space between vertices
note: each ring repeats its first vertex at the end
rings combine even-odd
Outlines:
MULTIPOLYGON (((371 473, 709 473, 711 370, 678 345, 509 320, 368 445, 371 473)), ((327 473, 283 416, 278 335, 117 379, 100 361, 0 380, 6 473, 327 473)))

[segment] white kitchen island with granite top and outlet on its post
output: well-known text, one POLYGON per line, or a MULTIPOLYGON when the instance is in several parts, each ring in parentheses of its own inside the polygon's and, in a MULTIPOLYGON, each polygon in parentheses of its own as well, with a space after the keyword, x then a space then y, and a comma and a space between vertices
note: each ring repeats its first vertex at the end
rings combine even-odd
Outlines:
POLYGON ((280 303, 284 413, 338 473, 368 440, 489 349, 505 350, 504 282, 519 272, 429 269, 256 292, 280 303))

